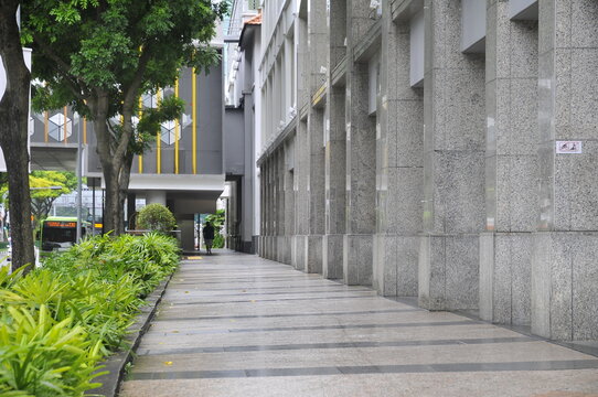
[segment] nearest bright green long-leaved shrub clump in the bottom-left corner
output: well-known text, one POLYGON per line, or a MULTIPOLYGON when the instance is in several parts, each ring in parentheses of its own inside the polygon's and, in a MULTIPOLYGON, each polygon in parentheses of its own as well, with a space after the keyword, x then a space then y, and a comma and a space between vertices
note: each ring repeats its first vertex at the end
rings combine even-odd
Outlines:
POLYGON ((98 387, 99 342, 92 346, 74 319, 56 321, 39 310, 9 307, 0 323, 0 391, 21 396, 81 396, 98 387))

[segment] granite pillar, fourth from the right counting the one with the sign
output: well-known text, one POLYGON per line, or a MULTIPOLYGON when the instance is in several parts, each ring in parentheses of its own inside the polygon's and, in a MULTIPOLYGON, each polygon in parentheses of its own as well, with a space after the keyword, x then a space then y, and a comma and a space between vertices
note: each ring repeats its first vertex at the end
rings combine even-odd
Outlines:
POLYGON ((416 297, 424 180, 424 90, 410 86, 409 21, 394 23, 389 2, 383 4, 374 288, 384 296, 416 297))

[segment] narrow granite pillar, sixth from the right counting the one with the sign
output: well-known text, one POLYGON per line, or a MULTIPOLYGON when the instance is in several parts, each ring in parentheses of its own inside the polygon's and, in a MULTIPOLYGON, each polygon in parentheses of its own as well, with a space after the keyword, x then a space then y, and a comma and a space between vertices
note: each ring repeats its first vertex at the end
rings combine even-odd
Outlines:
POLYGON ((328 97, 324 116, 325 143, 325 235, 322 275, 343 278, 343 235, 345 232, 346 133, 345 87, 332 86, 332 73, 346 55, 346 1, 331 0, 328 14, 330 46, 328 55, 328 97))

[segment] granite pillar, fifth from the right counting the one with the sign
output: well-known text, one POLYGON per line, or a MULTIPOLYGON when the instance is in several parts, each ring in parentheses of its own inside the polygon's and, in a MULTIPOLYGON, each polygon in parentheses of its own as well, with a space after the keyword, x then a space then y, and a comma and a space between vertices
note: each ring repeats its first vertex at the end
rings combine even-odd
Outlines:
POLYGON ((367 114, 367 64, 353 62, 353 46, 370 30, 370 3, 349 0, 346 50, 346 234, 343 280, 372 285, 376 197, 376 119, 367 114))

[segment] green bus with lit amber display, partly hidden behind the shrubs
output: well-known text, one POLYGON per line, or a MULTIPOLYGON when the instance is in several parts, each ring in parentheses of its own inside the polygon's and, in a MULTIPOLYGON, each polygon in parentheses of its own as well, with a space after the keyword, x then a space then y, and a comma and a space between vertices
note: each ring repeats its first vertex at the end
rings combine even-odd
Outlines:
MULTIPOLYGON (((84 238, 92 233, 92 224, 82 222, 81 236, 84 238)), ((40 256, 47 256, 52 251, 65 250, 73 246, 77 239, 77 218, 67 216, 50 216, 42 223, 40 256)))

